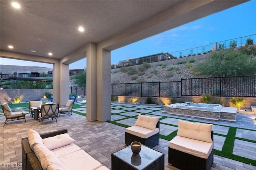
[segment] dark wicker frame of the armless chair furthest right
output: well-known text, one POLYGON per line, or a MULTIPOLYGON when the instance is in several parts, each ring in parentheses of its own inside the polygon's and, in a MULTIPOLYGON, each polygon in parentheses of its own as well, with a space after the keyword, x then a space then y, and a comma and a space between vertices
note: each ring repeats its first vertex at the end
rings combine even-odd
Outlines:
MULTIPOLYGON (((213 141, 213 131, 211 138, 213 141)), ((204 159, 169 147, 168 163, 182 170, 210 170, 213 164, 213 149, 208 158, 204 159)))

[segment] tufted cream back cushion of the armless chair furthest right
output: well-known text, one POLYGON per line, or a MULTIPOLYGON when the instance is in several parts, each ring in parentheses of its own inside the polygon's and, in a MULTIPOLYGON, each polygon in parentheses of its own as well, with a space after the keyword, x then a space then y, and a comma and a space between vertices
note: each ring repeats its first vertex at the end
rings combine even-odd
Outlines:
POLYGON ((177 136, 212 143, 212 124, 178 120, 177 136))

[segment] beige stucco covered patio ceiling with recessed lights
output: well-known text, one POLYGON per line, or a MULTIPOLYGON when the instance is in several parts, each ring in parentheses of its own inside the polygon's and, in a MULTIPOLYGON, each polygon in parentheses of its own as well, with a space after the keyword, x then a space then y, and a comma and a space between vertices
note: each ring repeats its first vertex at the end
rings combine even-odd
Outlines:
POLYGON ((86 57, 78 51, 90 42, 110 41, 104 49, 112 51, 246 1, 22 0, 16 1, 19 9, 12 2, 0 1, 1 56, 19 59, 4 51, 53 59, 73 54, 70 64, 86 57))

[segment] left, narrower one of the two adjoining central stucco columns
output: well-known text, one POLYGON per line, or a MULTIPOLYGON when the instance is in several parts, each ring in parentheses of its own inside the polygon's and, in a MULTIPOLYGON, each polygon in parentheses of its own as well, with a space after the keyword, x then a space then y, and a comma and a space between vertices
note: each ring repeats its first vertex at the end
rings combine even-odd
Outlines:
POLYGON ((86 48, 86 119, 97 121, 97 45, 86 48))

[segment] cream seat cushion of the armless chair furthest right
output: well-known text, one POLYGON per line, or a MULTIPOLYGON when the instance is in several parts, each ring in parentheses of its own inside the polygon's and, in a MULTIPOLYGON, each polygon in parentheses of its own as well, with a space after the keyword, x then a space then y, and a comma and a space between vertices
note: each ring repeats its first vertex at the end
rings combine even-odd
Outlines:
POLYGON ((176 136, 169 142, 169 147, 200 158, 207 159, 213 149, 213 143, 176 136))

